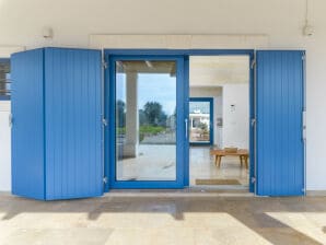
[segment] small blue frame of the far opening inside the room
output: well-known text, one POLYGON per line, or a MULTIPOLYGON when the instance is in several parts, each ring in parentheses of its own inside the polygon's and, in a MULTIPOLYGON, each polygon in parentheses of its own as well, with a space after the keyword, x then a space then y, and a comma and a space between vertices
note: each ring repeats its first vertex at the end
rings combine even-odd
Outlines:
POLYGON ((214 100, 212 97, 190 97, 189 102, 209 102, 209 142, 190 142, 190 145, 213 145, 214 144, 214 103, 213 103, 214 100))

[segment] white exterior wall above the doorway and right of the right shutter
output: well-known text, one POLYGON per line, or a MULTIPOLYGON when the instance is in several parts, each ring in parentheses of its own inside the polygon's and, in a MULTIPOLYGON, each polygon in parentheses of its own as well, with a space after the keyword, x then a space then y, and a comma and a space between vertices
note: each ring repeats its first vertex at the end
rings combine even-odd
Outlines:
MULTIPOLYGON (((107 39, 96 44, 90 36, 98 33, 226 33, 232 35, 195 38, 191 47, 306 49, 306 187, 326 190, 326 1, 310 1, 308 19, 315 27, 311 37, 302 35, 304 8, 304 0, 0 1, 0 50, 9 45, 89 47, 91 42, 94 47, 104 47, 107 39), (42 37, 44 26, 54 28, 54 39, 42 37), (254 36, 234 37, 233 34, 254 36)), ((129 43, 133 47, 166 45, 167 48, 189 47, 191 43, 190 37, 165 39, 164 44, 153 44, 151 39, 154 38, 142 36, 129 43)), ((124 45, 115 44, 116 47, 124 45)), ((0 172, 0 179, 5 176, 5 172, 0 172)))

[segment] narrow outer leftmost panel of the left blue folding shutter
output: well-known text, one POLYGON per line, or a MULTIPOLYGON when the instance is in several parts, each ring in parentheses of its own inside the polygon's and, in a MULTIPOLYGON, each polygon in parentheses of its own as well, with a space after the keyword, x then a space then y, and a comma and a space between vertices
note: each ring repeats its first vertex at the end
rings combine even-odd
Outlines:
POLYGON ((45 198, 43 49, 14 54, 12 74, 12 192, 45 198))

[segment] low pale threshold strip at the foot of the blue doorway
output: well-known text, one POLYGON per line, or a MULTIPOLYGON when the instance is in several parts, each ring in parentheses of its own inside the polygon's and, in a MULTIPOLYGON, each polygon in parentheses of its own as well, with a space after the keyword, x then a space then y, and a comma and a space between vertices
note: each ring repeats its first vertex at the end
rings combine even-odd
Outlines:
POLYGON ((105 197, 254 197, 248 189, 225 189, 209 186, 184 189, 113 189, 105 197))

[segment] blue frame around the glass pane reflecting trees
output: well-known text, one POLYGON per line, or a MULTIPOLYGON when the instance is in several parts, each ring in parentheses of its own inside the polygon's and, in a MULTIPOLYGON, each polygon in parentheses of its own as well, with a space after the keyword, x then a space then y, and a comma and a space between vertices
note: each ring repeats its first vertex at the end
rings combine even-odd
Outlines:
POLYGON ((106 78, 109 78, 109 82, 106 88, 105 96, 106 102, 106 115, 107 118, 113 118, 108 121, 108 130, 106 130, 106 163, 108 161, 107 176, 109 188, 183 188, 184 187, 184 148, 186 148, 186 127, 185 127, 185 83, 184 81, 184 57, 183 56, 153 56, 153 55, 116 55, 107 57, 108 60, 108 73, 106 78), (117 180, 116 179, 116 125, 115 125, 115 101, 116 101, 116 61, 121 60, 168 60, 176 62, 176 179, 175 180, 117 180))

